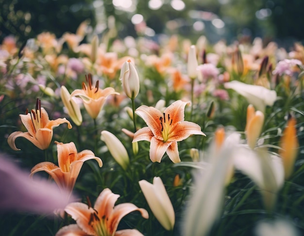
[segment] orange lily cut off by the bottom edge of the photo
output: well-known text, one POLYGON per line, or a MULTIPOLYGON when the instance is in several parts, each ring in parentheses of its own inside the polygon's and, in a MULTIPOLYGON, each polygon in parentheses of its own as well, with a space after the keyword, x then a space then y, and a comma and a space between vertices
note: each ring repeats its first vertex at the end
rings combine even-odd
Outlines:
POLYGON ((91 236, 142 236, 139 231, 133 229, 117 230, 119 221, 133 211, 139 211, 143 218, 148 219, 148 212, 138 208, 132 203, 122 203, 114 206, 119 195, 110 189, 103 189, 98 196, 94 208, 84 203, 70 203, 65 211, 76 220, 60 229, 56 236, 91 235, 91 236), (85 233, 82 234, 82 231, 85 233), (77 233, 77 234, 76 234, 77 233))

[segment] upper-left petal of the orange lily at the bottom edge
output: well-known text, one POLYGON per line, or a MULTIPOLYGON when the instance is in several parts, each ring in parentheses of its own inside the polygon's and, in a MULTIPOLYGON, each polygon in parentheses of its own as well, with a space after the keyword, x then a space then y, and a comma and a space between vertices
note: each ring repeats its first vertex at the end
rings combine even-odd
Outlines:
POLYGON ((96 213, 92 207, 83 203, 70 203, 65 211, 77 222, 77 225, 88 235, 96 235, 90 222, 92 214, 96 213))

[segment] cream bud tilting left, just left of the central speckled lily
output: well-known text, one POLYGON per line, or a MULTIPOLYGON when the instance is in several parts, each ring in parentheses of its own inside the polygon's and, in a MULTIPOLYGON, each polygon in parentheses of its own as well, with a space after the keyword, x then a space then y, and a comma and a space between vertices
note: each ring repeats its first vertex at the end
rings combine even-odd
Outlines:
POLYGON ((126 170, 130 159, 128 152, 118 138, 109 131, 101 131, 101 140, 107 145, 112 157, 118 162, 122 169, 126 170))

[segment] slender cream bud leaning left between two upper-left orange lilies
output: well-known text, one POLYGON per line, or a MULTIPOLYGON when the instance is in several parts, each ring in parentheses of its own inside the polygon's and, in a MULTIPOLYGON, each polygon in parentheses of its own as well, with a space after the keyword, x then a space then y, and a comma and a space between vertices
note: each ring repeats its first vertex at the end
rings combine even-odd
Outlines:
POLYGON ((61 86, 60 96, 63 104, 68 110, 68 115, 71 117, 76 126, 80 126, 83 122, 80 107, 73 98, 70 98, 70 94, 65 86, 61 86))

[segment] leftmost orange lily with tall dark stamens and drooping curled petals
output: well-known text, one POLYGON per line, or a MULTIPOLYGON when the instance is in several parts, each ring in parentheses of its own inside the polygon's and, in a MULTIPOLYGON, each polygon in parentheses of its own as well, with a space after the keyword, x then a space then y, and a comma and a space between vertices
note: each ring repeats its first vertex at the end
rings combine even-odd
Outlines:
POLYGON ((16 131, 14 133, 11 133, 7 139, 10 147, 16 151, 20 150, 16 147, 15 144, 15 140, 18 137, 26 138, 36 147, 44 150, 50 146, 53 137, 53 127, 67 123, 68 128, 72 128, 71 124, 66 118, 59 118, 50 121, 47 111, 41 107, 41 103, 38 98, 36 102, 36 109, 31 110, 30 113, 26 113, 26 115, 19 116, 28 132, 16 131))

